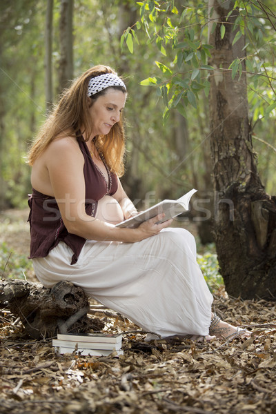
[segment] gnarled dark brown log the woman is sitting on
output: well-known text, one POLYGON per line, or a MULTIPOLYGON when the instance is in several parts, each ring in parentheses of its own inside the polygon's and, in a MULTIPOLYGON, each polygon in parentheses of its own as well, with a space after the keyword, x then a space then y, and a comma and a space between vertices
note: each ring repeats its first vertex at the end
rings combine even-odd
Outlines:
POLYGON ((104 323, 87 315, 90 304, 83 289, 62 281, 52 288, 19 279, 0 281, 0 306, 19 317, 33 339, 57 333, 100 331, 104 323))

